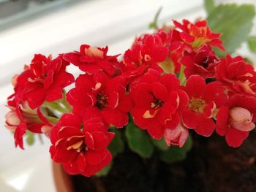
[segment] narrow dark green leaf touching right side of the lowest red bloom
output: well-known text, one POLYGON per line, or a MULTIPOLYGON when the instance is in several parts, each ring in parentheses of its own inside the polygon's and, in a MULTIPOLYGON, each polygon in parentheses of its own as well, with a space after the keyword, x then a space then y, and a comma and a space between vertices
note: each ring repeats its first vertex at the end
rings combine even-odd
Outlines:
POLYGON ((113 132, 116 134, 114 139, 108 145, 108 149, 110 150, 113 157, 122 153, 124 151, 124 141, 121 138, 121 132, 117 129, 113 128, 113 132))

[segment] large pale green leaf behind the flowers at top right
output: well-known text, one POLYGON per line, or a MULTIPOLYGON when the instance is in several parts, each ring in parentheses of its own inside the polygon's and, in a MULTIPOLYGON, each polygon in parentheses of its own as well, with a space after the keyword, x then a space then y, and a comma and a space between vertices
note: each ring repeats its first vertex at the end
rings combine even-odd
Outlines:
MULTIPOLYGON (((214 8, 208 15, 208 26, 215 33, 222 33, 226 53, 234 53, 241 43, 248 39, 255 17, 255 7, 249 4, 222 4, 214 8)), ((225 53, 217 50, 217 55, 225 53)))

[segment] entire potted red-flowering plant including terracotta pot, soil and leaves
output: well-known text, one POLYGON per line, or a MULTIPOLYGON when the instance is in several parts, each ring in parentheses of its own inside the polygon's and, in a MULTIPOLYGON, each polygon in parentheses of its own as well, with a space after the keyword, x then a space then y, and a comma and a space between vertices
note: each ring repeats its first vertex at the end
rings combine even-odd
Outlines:
POLYGON ((256 72, 233 54, 255 10, 206 8, 207 21, 156 17, 123 58, 91 45, 35 55, 7 101, 15 145, 49 137, 59 191, 255 191, 256 72))

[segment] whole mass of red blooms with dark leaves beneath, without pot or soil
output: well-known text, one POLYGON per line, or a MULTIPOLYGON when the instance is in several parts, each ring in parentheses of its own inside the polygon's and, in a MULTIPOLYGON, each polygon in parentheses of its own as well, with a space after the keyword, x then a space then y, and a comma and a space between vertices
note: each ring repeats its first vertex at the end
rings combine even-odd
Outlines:
POLYGON ((241 56, 217 54, 221 35, 206 20, 173 20, 137 37, 123 58, 90 45, 35 55, 12 80, 6 127, 22 149, 23 137, 46 134, 53 161, 86 177, 107 174, 126 146, 173 162, 191 147, 190 134, 216 131, 239 147, 255 128, 256 72, 241 56), (76 79, 69 64, 80 69, 76 79))

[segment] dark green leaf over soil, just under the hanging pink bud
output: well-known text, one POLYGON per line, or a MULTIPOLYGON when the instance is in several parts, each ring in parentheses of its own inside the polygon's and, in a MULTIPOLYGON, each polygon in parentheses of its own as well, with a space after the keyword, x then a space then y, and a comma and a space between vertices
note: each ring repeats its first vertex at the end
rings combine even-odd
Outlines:
POLYGON ((185 145, 180 148, 177 146, 171 146, 169 150, 162 151, 160 153, 160 159, 167 164, 182 161, 186 158, 187 152, 192 147, 192 138, 189 136, 185 145))

